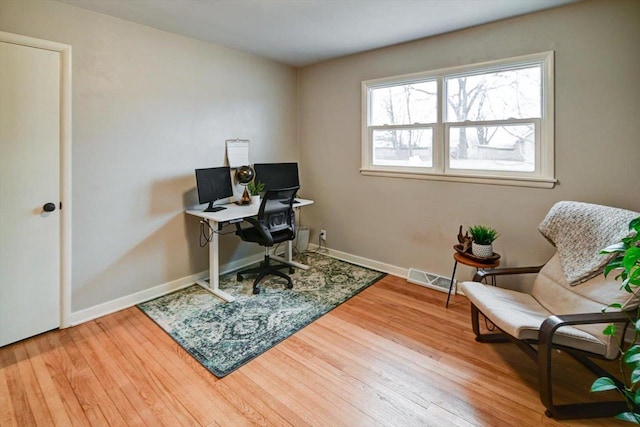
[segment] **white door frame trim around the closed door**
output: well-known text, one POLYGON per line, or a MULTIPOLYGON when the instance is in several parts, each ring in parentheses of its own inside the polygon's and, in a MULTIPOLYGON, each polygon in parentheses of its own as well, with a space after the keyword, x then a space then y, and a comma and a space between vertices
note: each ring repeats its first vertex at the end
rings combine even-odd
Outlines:
POLYGON ((71 46, 0 31, 0 41, 60 52, 60 327, 71 321, 71 46))

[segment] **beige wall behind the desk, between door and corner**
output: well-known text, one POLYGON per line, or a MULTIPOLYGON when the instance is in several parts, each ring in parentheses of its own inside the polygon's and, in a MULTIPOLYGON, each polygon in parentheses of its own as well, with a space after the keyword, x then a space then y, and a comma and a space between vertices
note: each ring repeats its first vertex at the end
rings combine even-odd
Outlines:
POLYGON ((298 158, 291 67, 48 0, 0 0, 0 30, 73 46, 72 311, 207 269, 183 209, 225 139, 298 158))

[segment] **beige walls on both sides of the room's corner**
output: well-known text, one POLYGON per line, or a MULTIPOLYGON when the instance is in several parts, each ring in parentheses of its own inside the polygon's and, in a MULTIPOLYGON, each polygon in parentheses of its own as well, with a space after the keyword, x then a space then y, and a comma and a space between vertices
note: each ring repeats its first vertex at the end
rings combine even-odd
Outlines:
MULTIPOLYGON (((458 226, 502 232, 506 265, 552 248, 558 200, 640 211, 640 2, 594 1, 296 70, 49 0, 0 0, 0 30, 73 46, 72 310, 207 268, 193 169, 251 139, 253 161, 301 163, 303 223, 329 247, 449 275, 458 226), (362 80, 556 52, 552 190, 364 177, 362 80), (300 139, 299 146, 297 139, 300 139)), ((316 241, 316 236, 312 236, 316 241)), ((253 253, 223 237, 221 262, 253 253)), ((461 274, 468 277, 469 271, 461 274)))

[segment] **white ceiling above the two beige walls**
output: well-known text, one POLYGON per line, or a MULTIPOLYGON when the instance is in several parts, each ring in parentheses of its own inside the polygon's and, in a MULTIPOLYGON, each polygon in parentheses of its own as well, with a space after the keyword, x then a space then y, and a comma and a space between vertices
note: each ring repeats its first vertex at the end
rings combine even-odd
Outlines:
POLYGON ((59 0, 304 66, 579 0, 59 0))

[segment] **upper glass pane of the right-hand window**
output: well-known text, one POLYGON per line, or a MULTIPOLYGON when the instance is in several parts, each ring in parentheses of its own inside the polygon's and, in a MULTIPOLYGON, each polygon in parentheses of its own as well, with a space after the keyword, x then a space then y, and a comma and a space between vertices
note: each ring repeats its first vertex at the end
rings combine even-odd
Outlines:
POLYGON ((540 118, 541 66, 449 77, 447 122, 540 118))

